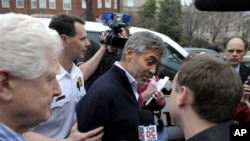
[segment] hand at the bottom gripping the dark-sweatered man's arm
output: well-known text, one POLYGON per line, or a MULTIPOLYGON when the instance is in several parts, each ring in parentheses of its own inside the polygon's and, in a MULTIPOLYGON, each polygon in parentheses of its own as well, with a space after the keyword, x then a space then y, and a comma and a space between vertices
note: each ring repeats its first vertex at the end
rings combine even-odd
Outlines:
POLYGON ((81 133, 77 129, 77 124, 75 124, 72 127, 70 135, 66 139, 66 141, 101 141, 103 136, 102 130, 103 127, 98 127, 88 132, 81 133))

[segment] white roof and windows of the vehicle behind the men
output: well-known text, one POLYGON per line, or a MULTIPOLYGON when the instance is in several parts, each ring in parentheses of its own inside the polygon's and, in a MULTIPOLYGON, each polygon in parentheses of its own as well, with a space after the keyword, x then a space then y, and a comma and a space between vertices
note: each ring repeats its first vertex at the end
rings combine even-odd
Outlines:
MULTIPOLYGON (((38 18, 45 25, 49 25, 50 18, 38 18)), ((99 22, 89 22, 86 21, 85 28, 87 31, 87 36, 89 39, 94 40, 96 42, 100 41, 100 33, 101 31, 110 30, 110 28, 103 23, 99 22)), ((159 32, 155 32, 152 30, 148 30, 145 28, 138 27, 130 27, 130 34, 133 34, 138 31, 149 31, 152 32, 163 39, 165 42, 166 48, 168 49, 168 54, 164 56, 161 60, 161 65, 159 68, 160 77, 168 76, 170 80, 173 80, 176 72, 179 70, 181 62, 188 56, 188 52, 183 49, 178 43, 170 39, 168 36, 161 34, 159 32)))

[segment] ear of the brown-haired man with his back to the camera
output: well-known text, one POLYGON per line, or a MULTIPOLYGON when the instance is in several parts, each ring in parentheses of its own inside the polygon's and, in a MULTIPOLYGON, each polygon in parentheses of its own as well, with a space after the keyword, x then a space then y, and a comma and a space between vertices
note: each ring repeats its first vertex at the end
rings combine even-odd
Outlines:
POLYGON ((178 106, 181 107, 181 106, 186 105, 190 100, 190 98, 189 98, 190 96, 191 96, 190 89, 186 86, 181 86, 180 95, 179 95, 178 101, 177 101, 178 106))

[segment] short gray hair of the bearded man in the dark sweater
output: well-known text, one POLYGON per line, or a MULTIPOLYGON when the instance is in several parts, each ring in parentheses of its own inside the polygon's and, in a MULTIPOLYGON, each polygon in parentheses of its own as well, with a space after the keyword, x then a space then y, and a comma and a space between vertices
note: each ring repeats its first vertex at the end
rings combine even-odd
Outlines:
MULTIPOLYGON (((162 54, 167 53, 163 40, 148 31, 140 31, 132 34, 128 38, 124 50, 129 46, 132 46, 137 54, 142 54, 146 49, 158 49, 162 54)), ((122 54, 122 60, 125 59, 124 53, 122 54)))

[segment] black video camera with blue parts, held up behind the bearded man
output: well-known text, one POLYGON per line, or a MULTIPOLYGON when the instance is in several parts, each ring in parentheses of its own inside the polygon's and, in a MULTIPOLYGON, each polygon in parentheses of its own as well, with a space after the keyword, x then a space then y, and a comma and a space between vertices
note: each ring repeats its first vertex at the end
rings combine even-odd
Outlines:
POLYGON ((110 45, 114 48, 123 48, 127 38, 120 37, 119 33, 122 32, 122 27, 126 27, 130 23, 131 17, 126 14, 104 13, 102 15, 102 22, 111 28, 106 37, 101 43, 110 45))

